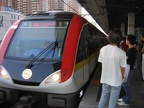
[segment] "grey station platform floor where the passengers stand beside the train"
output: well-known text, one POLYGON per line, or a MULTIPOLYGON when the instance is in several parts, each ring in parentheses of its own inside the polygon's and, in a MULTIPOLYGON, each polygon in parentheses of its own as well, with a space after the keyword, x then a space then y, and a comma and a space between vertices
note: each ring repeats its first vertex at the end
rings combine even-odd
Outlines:
MULTIPOLYGON (((85 92, 78 108, 98 108, 100 98, 100 73, 101 64, 95 70, 95 74, 85 92)), ((131 81, 131 102, 129 106, 119 106, 117 108, 144 108, 144 81, 142 80, 141 63, 138 61, 135 73, 131 81)), ((108 108, 108 104, 106 106, 108 108)))

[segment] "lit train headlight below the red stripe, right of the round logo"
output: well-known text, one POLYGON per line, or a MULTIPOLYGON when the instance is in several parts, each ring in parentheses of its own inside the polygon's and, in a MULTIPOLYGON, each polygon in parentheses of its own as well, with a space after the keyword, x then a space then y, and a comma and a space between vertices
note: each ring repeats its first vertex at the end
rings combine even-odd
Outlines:
POLYGON ((53 73, 52 75, 50 75, 46 80, 45 80, 45 84, 48 83, 59 83, 60 81, 60 71, 57 71, 55 73, 53 73))

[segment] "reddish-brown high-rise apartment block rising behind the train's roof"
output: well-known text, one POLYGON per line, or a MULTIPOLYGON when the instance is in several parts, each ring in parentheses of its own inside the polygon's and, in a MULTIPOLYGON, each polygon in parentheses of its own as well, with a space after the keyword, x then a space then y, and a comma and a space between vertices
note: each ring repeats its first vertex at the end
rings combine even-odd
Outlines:
POLYGON ((48 10, 80 13, 81 8, 76 0, 0 0, 0 6, 11 6, 24 15, 48 10))

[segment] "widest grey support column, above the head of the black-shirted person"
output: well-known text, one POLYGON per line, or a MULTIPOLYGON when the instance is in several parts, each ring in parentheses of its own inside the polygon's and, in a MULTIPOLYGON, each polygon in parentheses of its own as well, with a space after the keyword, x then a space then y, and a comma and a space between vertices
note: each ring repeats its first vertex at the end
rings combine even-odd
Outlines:
POLYGON ((128 32, 127 32, 127 34, 135 34, 134 25, 135 25, 135 13, 128 13, 128 32))

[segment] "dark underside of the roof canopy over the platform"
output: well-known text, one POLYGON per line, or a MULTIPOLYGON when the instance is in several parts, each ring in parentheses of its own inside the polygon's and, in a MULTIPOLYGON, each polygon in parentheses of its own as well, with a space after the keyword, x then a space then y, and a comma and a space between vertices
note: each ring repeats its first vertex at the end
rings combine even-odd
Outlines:
POLYGON ((144 0, 77 0, 108 32, 124 23, 127 31, 128 13, 135 13, 135 28, 144 28, 144 0))

